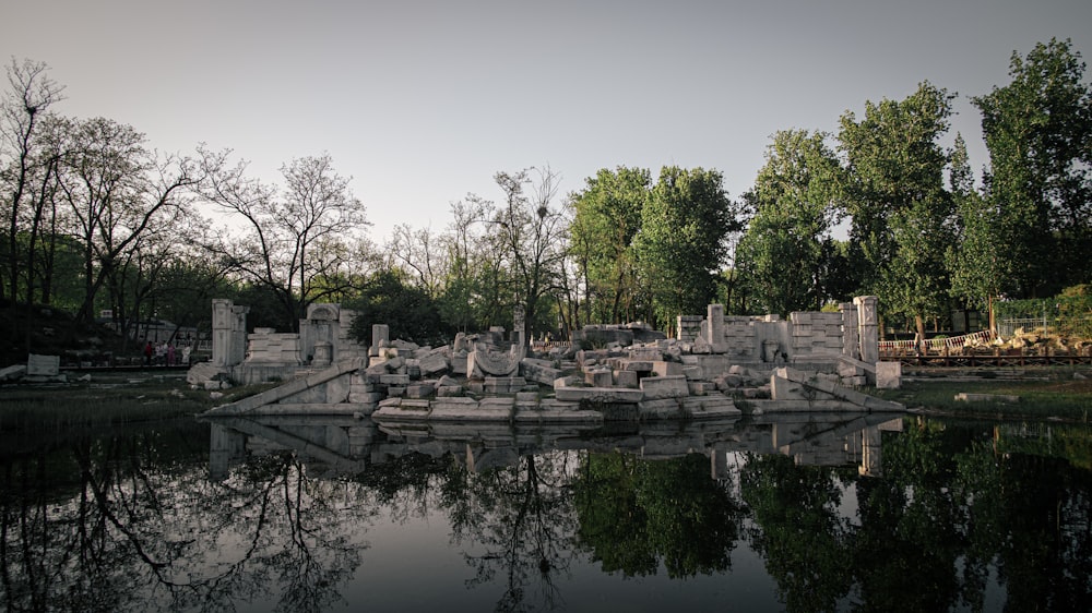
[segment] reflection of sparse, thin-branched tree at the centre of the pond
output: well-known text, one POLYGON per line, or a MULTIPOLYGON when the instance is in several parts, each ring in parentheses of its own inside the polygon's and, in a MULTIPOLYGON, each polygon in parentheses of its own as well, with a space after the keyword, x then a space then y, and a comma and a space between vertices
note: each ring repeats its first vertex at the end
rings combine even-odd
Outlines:
POLYGON ((520 457, 512 466, 479 473, 451 474, 441 504, 451 517, 452 540, 466 543, 467 564, 476 575, 467 584, 497 579, 505 592, 498 611, 533 608, 526 589, 537 585, 545 609, 559 604, 554 584, 566 574, 572 556, 572 454, 554 452, 520 457))

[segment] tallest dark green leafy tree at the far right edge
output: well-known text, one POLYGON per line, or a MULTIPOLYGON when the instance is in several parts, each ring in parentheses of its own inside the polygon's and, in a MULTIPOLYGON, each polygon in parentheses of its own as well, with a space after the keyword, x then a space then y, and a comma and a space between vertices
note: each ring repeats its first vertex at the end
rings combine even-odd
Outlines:
POLYGON ((1092 280, 1092 89, 1069 40, 1013 51, 1012 82, 973 98, 989 149, 986 197, 1001 291, 1051 296, 1092 280))

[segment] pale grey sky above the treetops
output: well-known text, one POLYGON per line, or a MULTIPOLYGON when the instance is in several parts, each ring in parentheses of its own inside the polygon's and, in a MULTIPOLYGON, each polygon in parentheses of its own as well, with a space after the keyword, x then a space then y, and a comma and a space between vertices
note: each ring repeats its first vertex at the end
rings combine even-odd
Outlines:
POLYGON ((977 171, 968 98, 1051 37, 1088 62, 1092 1, 0 0, 0 60, 46 62, 58 112, 232 148, 266 181, 328 152, 377 242, 530 166, 562 194, 600 168, 703 167, 736 197, 778 130, 836 132, 925 80, 959 94, 977 171))

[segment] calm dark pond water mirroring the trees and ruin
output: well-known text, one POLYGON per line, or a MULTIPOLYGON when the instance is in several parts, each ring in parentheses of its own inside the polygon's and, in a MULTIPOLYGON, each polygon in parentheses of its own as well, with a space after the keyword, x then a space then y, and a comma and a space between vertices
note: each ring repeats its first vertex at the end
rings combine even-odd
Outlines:
POLYGON ((1089 611, 1092 433, 222 419, 2 452, 10 611, 1089 611))

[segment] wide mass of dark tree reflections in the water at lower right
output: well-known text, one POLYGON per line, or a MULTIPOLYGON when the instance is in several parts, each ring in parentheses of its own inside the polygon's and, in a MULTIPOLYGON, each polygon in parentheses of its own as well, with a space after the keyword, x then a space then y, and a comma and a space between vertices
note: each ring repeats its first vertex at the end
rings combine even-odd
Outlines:
POLYGON ((885 440, 875 479, 752 457, 740 473, 750 538, 786 609, 982 610, 996 580, 1010 610, 1092 610, 1092 476, 1057 442, 990 434, 922 422, 885 440), (850 481, 856 518, 839 510, 850 481))

